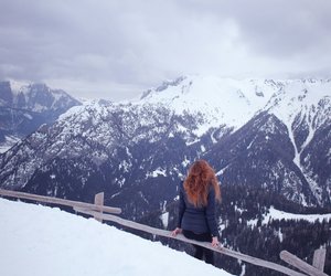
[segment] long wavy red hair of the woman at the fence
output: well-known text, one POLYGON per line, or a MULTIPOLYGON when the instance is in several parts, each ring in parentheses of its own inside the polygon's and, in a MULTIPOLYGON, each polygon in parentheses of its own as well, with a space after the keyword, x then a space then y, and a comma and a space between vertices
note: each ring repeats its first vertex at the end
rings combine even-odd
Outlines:
POLYGON ((221 201, 221 189, 215 171, 207 161, 195 161, 184 181, 184 190, 189 201, 195 206, 206 206, 210 185, 214 188, 215 199, 221 201))

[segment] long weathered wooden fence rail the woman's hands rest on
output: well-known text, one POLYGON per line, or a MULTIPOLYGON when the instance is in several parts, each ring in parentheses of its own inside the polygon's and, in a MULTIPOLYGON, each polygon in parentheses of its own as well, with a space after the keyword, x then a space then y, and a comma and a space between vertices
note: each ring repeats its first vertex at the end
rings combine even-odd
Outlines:
POLYGON ((89 211, 89 210, 86 210, 86 209, 84 210, 84 209, 79 209, 79 208, 75 208, 75 210, 77 212, 89 214, 89 215, 93 215, 93 216, 99 216, 104 221, 111 221, 111 222, 118 223, 118 224, 120 224, 122 226, 127 226, 127 227, 130 227, 130 229, 140 230, 140 231, 143 231, 143 232, 153 234, 153 235, 164 236, 164 237, 169 237, 169 238, 179 240, 179 241, 182 241, 182 242, 185 242, 185 243, 196 244, 196 245, 203 246, 205 248, 218 252, 221 254, 225 254, 227 256, 231 256, 231 257, 234 257, 234 258, 237 258, 237 259, 242 259, 244 262, 247 262, 247 263, 250 263, 250 264, 254 264, 254 265, 257 265, 257 266, 261 266, 261 267, 266 267, 266 268, 269 268, 269 269, 274 269, 274 270, 284 273, 286 275, 290 275, 290 276, 307 276, 307 275, 301 274, 299 272, 292 270, 292 269, 290 269, 288 267, 285 267, 285 266, 281 266, 281 265, 278 265, 278 264, 265 261, 265 259, 252 257, 249 255, 245 255, 245 254, 242 254, 239 252, 235 252, 235 251, 232 251, 232 250, 228 250, 228 248, 224 248, 222 246, 213 247, 211 245, 211 243, 203 243, 203 242, 197 242, 197 241, 194 241, 194 240, 189 240, 189 238, 184 237, 181 234, 179 234, 177 236, 172 236, 170 231, 151 227, 151 226, 148 226, 148 225, 145 225, 145 224, 140 224, 140 223, 137 223, 137 222, 132 222, 132 221, 128 221, 128 220, 121 219, 121 217, 116 216, 116 215, 102 214, 102 213, 98 213, 98 212, 95 212, 95 211, 89 211))

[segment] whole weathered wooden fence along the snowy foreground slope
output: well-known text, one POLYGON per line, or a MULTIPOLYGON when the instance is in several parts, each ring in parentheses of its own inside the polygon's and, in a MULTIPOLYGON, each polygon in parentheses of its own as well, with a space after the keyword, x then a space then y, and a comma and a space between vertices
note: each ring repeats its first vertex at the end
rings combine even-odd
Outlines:
POLYGON ((313 255, 313 263, 312 265, 303 262, 302 259, 298 258, 297 256, 292 255, 291 253, 287 251, 280 252, 280 258, 288 263, 291 266, 295 266, 296 268, 300 269, 302 273, 293 270, 289 267, 275 264, 265 259, 256 258, 249 255, 245 255, 243 253, 232 251, 222 246, 213 247, 211 243, 204 243, 204 242, 197 242, 193 240, 189 240, 184 237, 182 234, 178 234, 177 236, 172 236, 170 231, 160 230, 156 227, 151 227, 145 224, 140 224, 137 222, 132 222, 129 220, 121 219, 114 214, 119 214, 121 210, 119 208, 110 208, 104 205, 104 193, 98 193, 95 195, 95 203, 85 203, 85 202, 78 202, 78 201, 70 201, 64 199, 57 199, 57 198, 50 198, 50 197, 43 197, 43 195, 36 195, 36 194, 30 194, 30 193, 22 193, 22 192, 15 192, 15 191, 8 191, 0 189, 0 194, 4 197, 10 198, 19 198, 19 199, 28 199, 33 201, 40 201, 40 202, 46 202, 46 203, 54 203, 54 204, 61 204, 66 206, 72 206, 76 212, 84 213, 87 215, 94 216, 99 222, 103 221, 111 221, 115 223, 118 223, 122 226, 139 230, 142 232, 147 232, 153 235, 159 235, 168 238, 174 238, 178 241, 182 241, 185 243, 196 244, 200 246, 203 246, 205 248, 212 250, 214 252, 257 265, 261 267, 266 267, 269 269, 274 269, 277 272, 280 272, 286 275, 290 276, 328 276, 325 273, 323 273, 324 268, 324 262, 325 262, 325 248, 319 248, 314 252, 313 255))

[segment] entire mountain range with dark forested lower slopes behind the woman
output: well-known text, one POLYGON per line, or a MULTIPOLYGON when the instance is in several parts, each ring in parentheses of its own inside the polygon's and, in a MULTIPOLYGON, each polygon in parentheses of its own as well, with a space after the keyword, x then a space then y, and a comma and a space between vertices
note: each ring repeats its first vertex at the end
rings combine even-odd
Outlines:
MULTIPOLYGON (((330 79, 184 76, 139 100, 81 104, 64 94, 63 105, 45 85, 1 87, 7 87, 0 89, 1 134, 18 142, 0 155, 0 188, 87 202, 104 191, 105 204, 121 208, 122 216, 171 230, 179 182, 194 160, 204 158, 222 184, 216 216, 225 247, 276 263, 287 250, 312 263, 313 251, 322 246, 330 274, 330 220, 267 219, 274 208, 330 213, 330 79), (35 89, 44 92, 39 100, 35 89), (25 95, 20 107, 14 92, 25 95), (21 124, 11 117, 18 110, 21 124), (10 123, 14 131, 2 127, 10 123), (29 124, 33 127, 25 130, 29 124)), ((216 265, 234 275, 265 273, 222 255, 216 265)))

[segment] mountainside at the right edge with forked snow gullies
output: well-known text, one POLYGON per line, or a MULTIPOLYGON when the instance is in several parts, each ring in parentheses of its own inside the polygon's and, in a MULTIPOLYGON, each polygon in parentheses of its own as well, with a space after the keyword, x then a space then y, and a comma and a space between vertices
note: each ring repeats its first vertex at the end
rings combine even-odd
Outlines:
POLYGON ((288 82, 265 109, 286 126, 293 146, 293 163, 318 202, 330 199, 331 81, 288 82))

